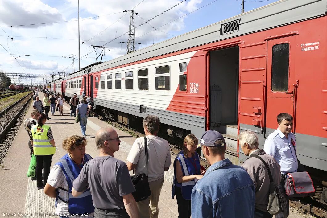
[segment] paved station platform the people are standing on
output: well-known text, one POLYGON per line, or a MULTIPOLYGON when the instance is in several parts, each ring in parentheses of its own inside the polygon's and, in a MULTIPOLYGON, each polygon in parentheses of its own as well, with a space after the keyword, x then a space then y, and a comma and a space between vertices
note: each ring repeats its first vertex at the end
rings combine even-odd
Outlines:
MULTIPOLYGON (((46 125, 51 126, 57 146, 52 166, 66 154, 61 146, 62 141, 71 135, 81 136, 79 123, 75 123, 75 118, 70 117, 67 105, 64 106, 64 115, 60 116, 56 111, 57 115, 49 115, 51 119, 46 122, 46 125)), ((31 104, 26 113, 26 119, 30 118, 32 110, 31 104)), ((98 150, 95 147, 95 133, 104 126, 109 126, 109 124, 95 117, 89 117, 87 120, 86 153, 92 157, 98 156, 98 150)), ((114 153, 114 157, 126 162, 129 150, 136 138, 117 128, 114 129, 121 140, 119 151, 114 153)), ((28 134, 24 125, 21 125, 4 159, 4 168, 0 169, 0 217, 58 217, 55 215, 55 199, 46 196, 43 190, 37 190, 36 181, 31 181, 26 177, 30 162, 27 142, 28 134)), ((171 156, 171 158, 173 162, 175 157, 171 156)), ((159 217, 178 217, 176 198, 171 199, 173 174, 174 169, 171 165, 170 169, 164 173, 164 183, 159 200, 159 217)))

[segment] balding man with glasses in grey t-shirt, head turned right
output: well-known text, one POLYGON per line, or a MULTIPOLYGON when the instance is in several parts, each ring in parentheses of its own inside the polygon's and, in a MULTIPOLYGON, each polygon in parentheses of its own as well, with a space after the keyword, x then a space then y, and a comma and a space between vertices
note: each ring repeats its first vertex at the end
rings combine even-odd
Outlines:
POLYGON ((83 166, 73 184, 74 197, 90 187, 95 217, 137 218, 138 210, 132 192, 135 191, 127 165, 113 157, 120 140, 111 127, 101 128, 95 136, 99 157, 83 166))

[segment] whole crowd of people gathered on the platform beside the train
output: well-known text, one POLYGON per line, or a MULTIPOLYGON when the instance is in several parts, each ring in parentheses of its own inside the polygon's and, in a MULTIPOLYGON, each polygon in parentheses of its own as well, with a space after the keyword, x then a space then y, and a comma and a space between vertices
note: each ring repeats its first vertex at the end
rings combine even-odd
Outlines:
MULTIPOLYGON (((58 99, 52 98, 55 98, 54 95, 48 99, 48 94, 45 94, 45 107, 48 107, 45 103, 51 106, 52 102, 62 107, 61 95, 58 99)), ((56 214, 60 217, 69 214, 84 214, 82 217, 158 217, 164 171, 169 170, 172 162, 169 143, 157 135, 158 117, 148 115, 144 118, 146 138, 135 140, 127 163, 114 158, 114 152, 119 150, 121 143, 117 132, 111 127, 103 127, 95 135, 98 157, 92 158, 85 153, 85 137, 73 135, 63 141, 62 147, 67 154, 50 171, 56 151, 55 139, 51 127, 45 125, 48 116, 39 110, 39 101, 39 96, 36 96, 35 110, 27 122, 28 145, 31 155, 34 153, 37 160, 37 189, 44 189, 46 195, 56 198, 56 214), (132 193, 135 187, 129 171, 133 171, 134 175, 144 173, 147 176, 151 191, 148 198, 138 202, 134 200, 132 193)), ((70 99, 71 116, 75 111, 81 114, 81 131, 85 136, 91 106, 84 98, 79 102, 77 104, 77 95, 70 99)), ((176 195, 178 217, 271 218, 267 210, 270 181, 266 165, 273 182, 286 198, 286 174, 304 170, 297 159, 295 138, 291 132, 293 117, 281 113, 277 116, 277 124, 278 128, 265 141, 264 149, 259 148, 254 132, 239 134, 241 149, 249 156, 242 166, 225 158, 226 141, 219 132, 205 131, 199 143, 195 135, 187 135, 183 149, 173 162, 172 198, 176 195), (197 151, 200 147, 209 164, 206 170, 200 165, 197 151)), ((284 211, 276 217, 287 217, 288 214, 289 211, 284 211)))

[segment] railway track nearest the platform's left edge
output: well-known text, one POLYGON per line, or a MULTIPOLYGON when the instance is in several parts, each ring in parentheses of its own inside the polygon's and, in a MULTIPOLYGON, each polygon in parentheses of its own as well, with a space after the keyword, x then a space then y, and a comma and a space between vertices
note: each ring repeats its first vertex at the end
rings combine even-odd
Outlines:
POLYGON ((8 108, 0 111, 0 165, 3 164, 3 159, 6 157, 18 128, 25 118, 23 111, 32 97, 33 92, 30 92, 8 108))

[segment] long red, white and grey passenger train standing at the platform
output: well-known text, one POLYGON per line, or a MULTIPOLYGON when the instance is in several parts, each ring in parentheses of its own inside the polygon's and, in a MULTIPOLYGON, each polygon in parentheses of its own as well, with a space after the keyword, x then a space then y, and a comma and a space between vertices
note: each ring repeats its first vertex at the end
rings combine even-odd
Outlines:
MULTIPOLYGON (((255 132, 262 148, 276 116, 294 117, 297 156, 327 204, 327 0, 282 0, 87 66, 51 82, 69 100, 83 89, 95 112, 129 126, 160 118, 170 137, 224 134, 245 161, 237 134, 255 132), (319 189, 320 190, 320 189, 319 189)), ((229 157, 229 156, 227 156, 229 157)))

